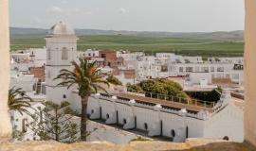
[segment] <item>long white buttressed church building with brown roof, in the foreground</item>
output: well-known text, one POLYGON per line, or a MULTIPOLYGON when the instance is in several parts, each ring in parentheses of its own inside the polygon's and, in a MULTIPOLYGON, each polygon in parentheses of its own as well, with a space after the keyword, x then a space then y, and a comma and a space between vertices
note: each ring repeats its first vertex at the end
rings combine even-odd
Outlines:
POLYGON ((167 103, 128 93, 115 93, 112 97, 96 94, 90 98, 87 113, 91 119, 139 129, 148 136, 164 136, 174 142, 187 138, 234 142, 244 139, 243 109, 232 103, 229 93, 224 93, 213 108, 167 103))

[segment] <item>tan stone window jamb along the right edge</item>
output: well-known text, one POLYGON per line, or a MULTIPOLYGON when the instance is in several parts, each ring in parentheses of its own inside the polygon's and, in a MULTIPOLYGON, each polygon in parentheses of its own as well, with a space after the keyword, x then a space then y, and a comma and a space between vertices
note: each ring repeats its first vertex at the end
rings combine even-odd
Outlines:
POLYGON ((256 145, 256 0, 246 0, 245 138, 256 145))

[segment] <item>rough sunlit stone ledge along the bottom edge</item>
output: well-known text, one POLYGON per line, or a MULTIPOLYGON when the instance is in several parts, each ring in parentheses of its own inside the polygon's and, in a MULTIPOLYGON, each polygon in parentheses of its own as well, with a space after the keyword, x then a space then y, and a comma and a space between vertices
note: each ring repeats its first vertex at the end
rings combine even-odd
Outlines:
POLYGON ((108 142, 56 143, 18 142, 0 143, 1 151, 255 151, 248 143, 229 143, 216 140, 190 139, 186 143, 133 142, 115 144, 108 142))

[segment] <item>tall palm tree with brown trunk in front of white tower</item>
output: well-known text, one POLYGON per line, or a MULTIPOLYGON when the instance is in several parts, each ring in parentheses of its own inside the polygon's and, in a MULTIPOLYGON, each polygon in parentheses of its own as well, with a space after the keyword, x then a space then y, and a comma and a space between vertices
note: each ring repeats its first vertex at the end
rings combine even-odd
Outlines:
POLYGON ((76 85, 78 89, 78 94, 81 96, 81 140, 86 141, 87 131, 86 131, 86 120, 87 120, 87 103, 88 98, 92 93, 97 93, 98 91, 106 90, 101 84, 107 85, 109 83, 102 79, 104 77, 101 74, 100 69, 97 69, 96 62, 90 62, 87 59, 80 59, 78 64, 76 61, 71 61, 74 69, 73 71, 68 71, 63 69, 60 71, 60 75, 54 79, 62 79, 63 82, 59 83, 57 86, 67 86, 69 89, 71 86, 76 85))

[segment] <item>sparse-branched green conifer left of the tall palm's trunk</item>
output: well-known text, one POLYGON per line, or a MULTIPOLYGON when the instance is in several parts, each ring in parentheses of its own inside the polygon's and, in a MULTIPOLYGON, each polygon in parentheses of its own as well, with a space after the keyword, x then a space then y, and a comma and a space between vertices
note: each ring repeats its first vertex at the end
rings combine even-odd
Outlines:
POLYGON ((75 112, 70 109, 70 104, 66 101, 60 105, 46 101, 44 105, 44 109, 39 108, 31 115, 34 120, 27 124, 34 136, 39 136, 41 141, 55 140, 63 143, 79 140, 79 126, 72 121, 75 112))

